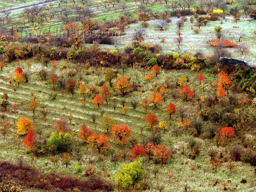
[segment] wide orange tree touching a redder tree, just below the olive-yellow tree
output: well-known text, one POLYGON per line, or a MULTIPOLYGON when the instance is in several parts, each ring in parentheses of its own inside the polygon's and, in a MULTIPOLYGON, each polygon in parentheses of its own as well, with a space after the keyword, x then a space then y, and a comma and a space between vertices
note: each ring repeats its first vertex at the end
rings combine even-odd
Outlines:
POLYGON ((101 151, 106 151, 108 149, 109 139, 104 134, 93 134, 88 137, 86 142, 92 150, 98 149, 98 152, 100 153, 101 151))

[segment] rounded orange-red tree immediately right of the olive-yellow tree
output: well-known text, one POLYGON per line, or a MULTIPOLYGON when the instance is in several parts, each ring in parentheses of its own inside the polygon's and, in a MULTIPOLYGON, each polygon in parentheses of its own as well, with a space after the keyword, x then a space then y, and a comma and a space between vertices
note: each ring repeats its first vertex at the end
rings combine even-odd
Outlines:
POLYGON ((131 135, 132 130, 127 125, 116 125, 112 127, 112 137, 121 144, 127 142, 128 137, 131 135))

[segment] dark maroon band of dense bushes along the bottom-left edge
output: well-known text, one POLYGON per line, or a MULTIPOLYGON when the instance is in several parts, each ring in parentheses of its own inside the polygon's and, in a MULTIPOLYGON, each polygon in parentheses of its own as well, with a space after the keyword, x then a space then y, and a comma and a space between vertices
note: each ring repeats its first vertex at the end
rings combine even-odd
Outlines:
POLYGON ((106 183, 106 181, 100 180, 97 176, 92 176, 87 180, 78 180, 71 177, 63 177, 56 174, 42 174, 38 170, 18 166, 15 164, 0 162, 0 167, 3 168, 2 173, 2 182, 0 182, 0 191, 3 192, 20 192, 21 185, 24 187, 33 187, 36 189, 44 189, 48 191, 68 191, 74 188, 79 189, 80 191, 91 192, 93 190, 97 191, 112 191, 112 185, 106 183), (15 180, 12 181, 12 180, 15 180), (16 186, 16 190, 3 190, 6 186, 16 186))

